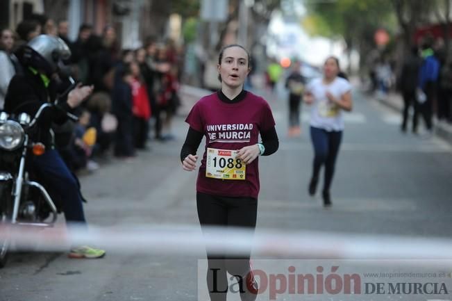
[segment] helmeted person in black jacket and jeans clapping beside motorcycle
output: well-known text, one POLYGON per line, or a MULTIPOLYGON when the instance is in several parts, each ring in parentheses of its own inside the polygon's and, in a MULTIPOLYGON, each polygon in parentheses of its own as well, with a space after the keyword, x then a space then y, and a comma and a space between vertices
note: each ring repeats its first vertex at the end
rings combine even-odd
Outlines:
MULTIPOLYGON (((40 141, 46 147, 41 156, 33 157, 33 166, 39 174, 45 174, 47 189, 52 197, 62 200, 62 209, 67 222, 86 225, 83 212, 83 197, 78 180, 69 171, 58 151, 54 148, 51 126, 62 124, 67 120, 67 113, 76 108, 81 101, 92 93, 92 86, 78 85, 71 90, 65 99, 55 104, 58 91, 58 65, 69 58, 70 51, 65 42, 51 35, 38 35, 21 47, 17 56, 22 63, 24 72, 16 74, 8 88, 5 98, 5 111, 17 115, 28 113, 35 116, 42 104, 51 103, 44 109, 37 122, 37 131, 31 137, 40 141)), ((75 247, 69 257, 98 258, 105 251, 92 247, 75 247)))

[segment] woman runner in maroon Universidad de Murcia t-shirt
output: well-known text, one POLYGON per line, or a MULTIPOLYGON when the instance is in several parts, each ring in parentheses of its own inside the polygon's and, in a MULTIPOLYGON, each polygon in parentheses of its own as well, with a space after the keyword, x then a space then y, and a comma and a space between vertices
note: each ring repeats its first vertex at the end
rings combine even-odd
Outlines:
MULTIPOLYGON (((278 149, 275 122, 267 101, 244 90, 250 56, 232 44, 218 58, 221 89, 201 98, 185 120, 190 124, 181 150, 183 170, 196 169, 196 149, 203 136, 206 147, 196 182, 196 204, 204 234, 206 227, 256 227, 258 209, 258 156, 278 149), (258 135, 262 143, 258 143, 258 135)), ((237 277, 240 298, 255 300, 258 286, 249 265, 251 250, 240 257, 226 257, 207 250, 210 299, 225 301, 226 271, 237 277), (244 281, 243 281, 244 280, 244 281)))

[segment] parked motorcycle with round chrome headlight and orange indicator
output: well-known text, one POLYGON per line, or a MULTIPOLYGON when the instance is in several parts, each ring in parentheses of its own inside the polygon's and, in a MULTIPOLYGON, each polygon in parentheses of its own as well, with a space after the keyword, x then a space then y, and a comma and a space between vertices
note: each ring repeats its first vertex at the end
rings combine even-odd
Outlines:
MULTIPOLYGON (((0 228, 8 226, 52 227, 58 208, 47 190, 35 179, 31 159, 45 152, 44 144, 33 141, 33 130, 43 104, 31 120, 30 115, 0 113, 0 228)), ((7 236, 8 237, 8 236, 7 236)), ((12 238, 0 241, 0 268, 6 265, 12 238)))

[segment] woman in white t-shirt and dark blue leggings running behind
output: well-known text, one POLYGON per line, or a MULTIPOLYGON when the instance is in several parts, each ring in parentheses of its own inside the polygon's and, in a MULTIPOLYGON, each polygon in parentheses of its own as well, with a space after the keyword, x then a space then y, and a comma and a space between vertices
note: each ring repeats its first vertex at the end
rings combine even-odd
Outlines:
POLYGON ((303 97, 307 104, 312 105, 310 134, 315 152, 309 194, 315 195, 320 168, 325 165, 324 206, 331 206, 330 186, 344 130, 342 111, 351 111, 353 106, 351 85, 338 74, 339 60, 334 56, 328 57, 324 63, 324 77, 312 80, 303 97))

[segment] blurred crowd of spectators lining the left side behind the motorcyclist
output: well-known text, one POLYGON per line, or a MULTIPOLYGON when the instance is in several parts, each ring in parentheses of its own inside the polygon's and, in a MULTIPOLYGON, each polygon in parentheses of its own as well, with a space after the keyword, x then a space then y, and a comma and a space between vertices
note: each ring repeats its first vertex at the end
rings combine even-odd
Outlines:
POLYGON ((149 149, 149 140, 174 138, 171 117, 180 102, 181 49, 155 37, 146 38, 138 49, 121 49, 112 26, 97 35, 90 24, 82 24, 72 41, 68 27, 66 20, 33 15, 14 30, 1 29, 0 111, 12 76, 22 72, 15 51, 37 35, 53 35, 72 53, 62 71, 94 86, 76 110, 78 122, 53 127, 58 151, 72 171, 99 168, 96 158, 110 151, 128 159, 137 149, 149 149))

